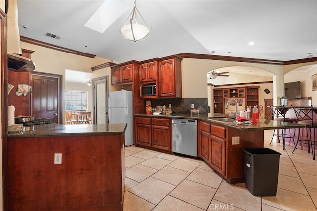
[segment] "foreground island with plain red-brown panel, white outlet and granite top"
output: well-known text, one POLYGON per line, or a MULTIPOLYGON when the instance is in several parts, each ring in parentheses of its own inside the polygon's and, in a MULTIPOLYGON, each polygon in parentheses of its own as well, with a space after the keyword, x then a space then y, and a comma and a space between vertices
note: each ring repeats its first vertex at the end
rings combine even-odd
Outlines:
POLYGON ((45 124, 9 134, 8 210, 122 210, 125 129, 45 124))

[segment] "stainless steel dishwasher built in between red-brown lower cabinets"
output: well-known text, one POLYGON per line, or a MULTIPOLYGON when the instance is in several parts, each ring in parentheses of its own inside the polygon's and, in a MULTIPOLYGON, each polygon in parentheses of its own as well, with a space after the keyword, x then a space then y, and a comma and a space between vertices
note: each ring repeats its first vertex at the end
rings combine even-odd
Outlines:
POLYGON ((172 119, 173 152, 197 156, 197 120, 172 119))

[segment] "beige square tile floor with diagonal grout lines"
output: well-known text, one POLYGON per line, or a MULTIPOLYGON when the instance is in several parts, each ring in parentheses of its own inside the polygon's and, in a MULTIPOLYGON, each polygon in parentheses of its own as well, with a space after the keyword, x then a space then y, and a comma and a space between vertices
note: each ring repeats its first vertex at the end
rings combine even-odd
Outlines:
POLYGON ((276 196, 253 196, 245 183, 229 184, 198 159, 151 151, 125 149, 124 211, 316 211, 317 160, 312 154, 281 143, 264 147, 281 153, 276 196))

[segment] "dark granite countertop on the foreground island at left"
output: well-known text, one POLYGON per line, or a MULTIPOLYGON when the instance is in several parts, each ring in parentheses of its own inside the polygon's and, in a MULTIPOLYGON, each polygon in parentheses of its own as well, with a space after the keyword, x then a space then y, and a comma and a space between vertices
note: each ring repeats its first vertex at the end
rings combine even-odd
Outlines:
POLYGON ((9 133, 8 138, 120 135, 124 134, 126 124, 42 124, 27 127, 32 129, 9 133))

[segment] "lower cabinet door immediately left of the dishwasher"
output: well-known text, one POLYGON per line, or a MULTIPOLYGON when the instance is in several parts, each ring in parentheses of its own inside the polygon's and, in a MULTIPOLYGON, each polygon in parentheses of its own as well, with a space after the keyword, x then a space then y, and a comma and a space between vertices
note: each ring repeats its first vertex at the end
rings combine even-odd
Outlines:
POLYGON ((152 125, 152 146, 162 150, 171 150, 170 127, 152 125))

